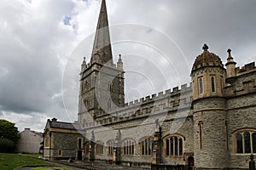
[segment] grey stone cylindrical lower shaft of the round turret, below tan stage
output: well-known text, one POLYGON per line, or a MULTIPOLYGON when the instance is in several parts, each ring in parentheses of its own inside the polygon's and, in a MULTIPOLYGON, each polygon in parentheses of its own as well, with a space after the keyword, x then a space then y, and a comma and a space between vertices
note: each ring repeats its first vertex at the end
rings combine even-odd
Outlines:
POLYGON ((226 111, 222 98, 194 103, 194 153, 196 168, 229 166, 226 150, 226 111), (201 129, 200 129, 201 127, 201 129), (200 138, 201 134, 201 138, 200 138))

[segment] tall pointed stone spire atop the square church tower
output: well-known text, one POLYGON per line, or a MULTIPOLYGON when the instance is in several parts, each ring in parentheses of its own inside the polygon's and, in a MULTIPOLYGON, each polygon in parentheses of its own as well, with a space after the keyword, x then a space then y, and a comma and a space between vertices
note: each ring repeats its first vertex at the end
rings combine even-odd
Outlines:
POLYGON ((96 28, 96 36, 90 62, 97 62, 103 65, 108 62, 113 64, 113 56, 108 28, 108 14, 105 0, 102 0, 102 7, 99 14, 98 24, 96 28))

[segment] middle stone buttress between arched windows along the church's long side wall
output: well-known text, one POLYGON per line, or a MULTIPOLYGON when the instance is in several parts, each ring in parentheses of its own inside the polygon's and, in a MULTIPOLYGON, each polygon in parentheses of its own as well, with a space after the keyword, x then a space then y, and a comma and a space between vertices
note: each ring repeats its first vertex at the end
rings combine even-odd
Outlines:
POLYGON ((121 163, 121 132, 120 130, 118 131, 117 136, 114 140, 113 162, 116 165, 119 165, 121 163))

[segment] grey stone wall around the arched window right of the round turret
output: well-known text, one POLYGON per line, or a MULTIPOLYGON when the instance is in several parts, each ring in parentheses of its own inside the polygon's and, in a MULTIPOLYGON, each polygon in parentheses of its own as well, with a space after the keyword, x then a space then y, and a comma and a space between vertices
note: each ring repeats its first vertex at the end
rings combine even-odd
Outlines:
POLYGON ((242 95, 236 98, 229 99, 227 102, 228 123, 229 123, 229 150, 230 150, 230 167, 249 166, 249 156, 251 154, 237 154, 234 145, 236 138, 232 138, 232 134, 237 130, 255 129, 256 130, 256 94, 242 95))

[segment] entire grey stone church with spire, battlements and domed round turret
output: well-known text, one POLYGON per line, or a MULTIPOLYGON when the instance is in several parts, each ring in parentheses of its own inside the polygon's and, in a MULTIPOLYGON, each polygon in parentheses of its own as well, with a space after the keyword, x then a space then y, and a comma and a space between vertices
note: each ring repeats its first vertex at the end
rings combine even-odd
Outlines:
POLYGON ((254 62, 236 67, 229 49, 223 64, 205 44, 189 86, 125 103, 123 62, 119 55, 113 63, 108 29, 102 0, 91 59, 81 65, 78 122, 47 121, 45 157, 152 169, 248 168, 256 155, 254 62))

